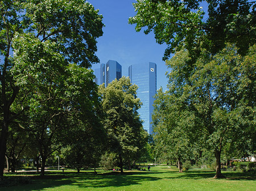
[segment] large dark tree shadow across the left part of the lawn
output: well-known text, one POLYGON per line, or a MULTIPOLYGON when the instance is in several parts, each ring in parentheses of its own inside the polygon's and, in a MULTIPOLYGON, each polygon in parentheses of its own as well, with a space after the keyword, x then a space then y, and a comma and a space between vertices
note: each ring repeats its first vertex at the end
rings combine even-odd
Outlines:
POLYGON ((80 188, 106 188, 114 186, 115 188, 119 186, 129 186, 129 185, 139 185, 143 181, 156 181, 159 180, 159 177, 148 176, 154 175, 156 173, 163 172, 111 172, 111 173, 98 173, 94 174, 93 172, 65 172, 61 173, 47 173, 47 175, 41 177, 38 175, 31 175, 26 173, 26 175, 15 176, 24 177, 28 176, 32 180, 30 184, 19 185, 19 186, 3 186, 0 187, 2 190, 43 190, 50 189, 59 186, 79 186, 80 188))

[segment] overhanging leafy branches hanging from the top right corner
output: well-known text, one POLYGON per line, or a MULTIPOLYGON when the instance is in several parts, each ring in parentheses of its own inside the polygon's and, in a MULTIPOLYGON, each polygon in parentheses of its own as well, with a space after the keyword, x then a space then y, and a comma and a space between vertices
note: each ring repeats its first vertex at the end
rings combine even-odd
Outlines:
POLYGON ((256 43, 254 1, 138 0, 133 6, 136 15, 129 23, 136 24, 138 32, 144 29, 146 35, 153 31, 157 43, 168 45, 163 60, 184 47, 195 62, 201 48, 215 54, 226 43, 236 44, 238 52, 245 55, 256 43), (208 5, 208 18, 201 2, 208 5))

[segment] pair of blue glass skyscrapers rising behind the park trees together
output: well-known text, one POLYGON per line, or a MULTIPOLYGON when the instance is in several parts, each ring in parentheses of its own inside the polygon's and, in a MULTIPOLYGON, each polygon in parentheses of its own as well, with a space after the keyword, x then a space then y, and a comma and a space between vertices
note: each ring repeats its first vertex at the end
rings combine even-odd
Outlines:
MULTIPOLYGON (((129 78, 131 83, 138 86, 137 96, 142 101, 142 107, 138 110, 143 120, 143 128, 148 134, 152 134, 152 112, 154 110, 154 96, 156 94, 156 64, 153 62, 139 63, 129 66, 129 78)), ((122 78, 122 66, 113 60, 106 64, 102 63, 100 68, 94 69, 95 82, 108 86, 115 78, 122 78)))

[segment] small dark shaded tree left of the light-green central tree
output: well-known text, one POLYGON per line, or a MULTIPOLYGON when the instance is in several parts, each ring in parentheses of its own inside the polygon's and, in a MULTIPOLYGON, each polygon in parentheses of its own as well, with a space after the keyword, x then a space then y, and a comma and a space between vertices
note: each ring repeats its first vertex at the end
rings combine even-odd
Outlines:
POLYGON ((65 163, 80 172, 81 168, 93 167, 94 171, 100 164, 106 134, 98 116, 87 116, 86 121, 72 118, 70 128, 65 134, 65 146, 61 154, 65 163))

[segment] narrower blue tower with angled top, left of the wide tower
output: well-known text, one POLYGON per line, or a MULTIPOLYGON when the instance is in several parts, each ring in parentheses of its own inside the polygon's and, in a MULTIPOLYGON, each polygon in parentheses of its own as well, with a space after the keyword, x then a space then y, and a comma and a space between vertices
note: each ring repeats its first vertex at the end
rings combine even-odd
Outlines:
POLYGON ((106 63, 106 86, 115 78, 122 78, 122 66, 114 60, 109 60, 106 63))

